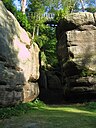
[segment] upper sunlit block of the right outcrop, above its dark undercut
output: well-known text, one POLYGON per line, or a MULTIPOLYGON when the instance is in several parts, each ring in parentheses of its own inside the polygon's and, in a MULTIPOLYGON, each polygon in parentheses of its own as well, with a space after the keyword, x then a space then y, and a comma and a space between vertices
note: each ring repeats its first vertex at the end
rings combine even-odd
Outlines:
POLYGON ((57 26, 57 50, 61 60, 72 59, 76 64, 96 70, 96 14, 72 13, 57 26))

